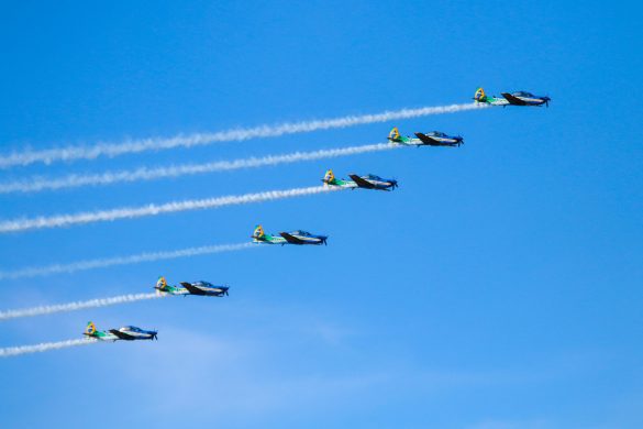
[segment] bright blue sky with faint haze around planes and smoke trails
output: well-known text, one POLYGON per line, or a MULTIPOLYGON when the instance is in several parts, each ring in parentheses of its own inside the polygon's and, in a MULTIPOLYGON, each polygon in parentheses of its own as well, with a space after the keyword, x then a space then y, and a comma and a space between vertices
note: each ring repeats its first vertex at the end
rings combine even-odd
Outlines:
POLYGON ((0 270, 306 229, 264 248, 4 280, 0 309, 228 283, 1 322, 0 346, 159 330, 0 361, 0 426, 643 427, 640 2, 4 4, 1 153, 470 101, 496 108, 279 139, 0 170, 3 182, 230 160, 441 130, 422 147, 0 197, 1 218, 396 177, 339 193, 0 237, 0 270))

